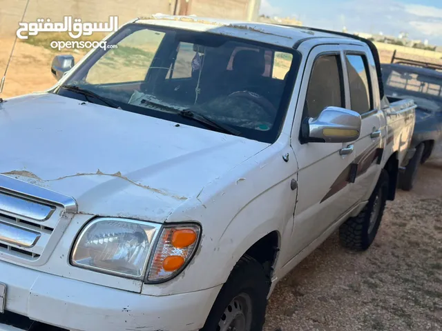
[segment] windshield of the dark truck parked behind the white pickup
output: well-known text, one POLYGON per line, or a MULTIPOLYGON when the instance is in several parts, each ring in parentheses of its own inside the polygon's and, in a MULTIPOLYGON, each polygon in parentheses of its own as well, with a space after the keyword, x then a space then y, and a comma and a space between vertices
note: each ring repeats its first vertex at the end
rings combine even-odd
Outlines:
POLYGON ((401 69, 384 67, 385 93, 391 97, 414 99, 417 106, 432 111, 442 111, 442 79, 431 74, 413 71, 413 67, 401 69))

